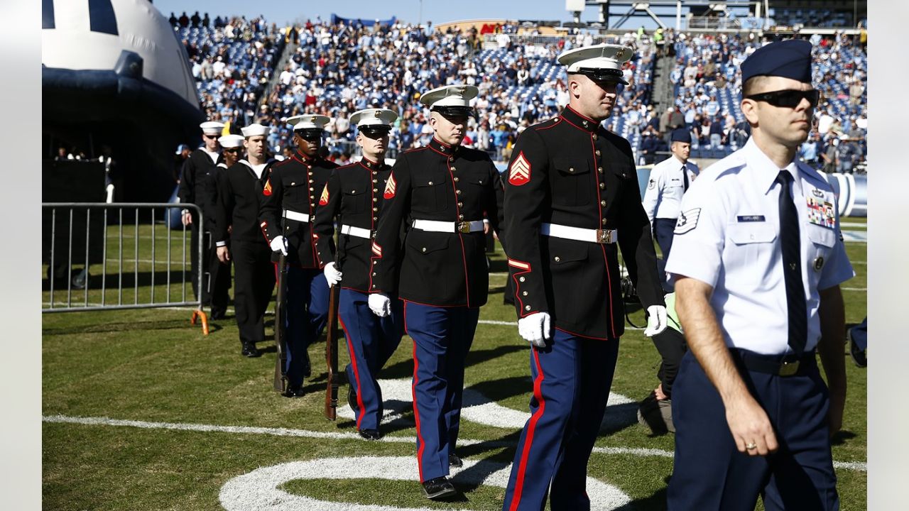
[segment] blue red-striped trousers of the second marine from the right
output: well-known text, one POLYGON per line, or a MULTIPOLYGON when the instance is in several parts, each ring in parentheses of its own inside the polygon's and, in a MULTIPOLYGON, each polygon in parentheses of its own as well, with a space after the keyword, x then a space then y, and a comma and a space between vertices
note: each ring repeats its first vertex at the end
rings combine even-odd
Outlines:
POLYGON ((448 475, 461 426, 464 359, 474 342, 479 308, 425 306, 405 301, 414 339, 414 418, 420 482, 448 475))

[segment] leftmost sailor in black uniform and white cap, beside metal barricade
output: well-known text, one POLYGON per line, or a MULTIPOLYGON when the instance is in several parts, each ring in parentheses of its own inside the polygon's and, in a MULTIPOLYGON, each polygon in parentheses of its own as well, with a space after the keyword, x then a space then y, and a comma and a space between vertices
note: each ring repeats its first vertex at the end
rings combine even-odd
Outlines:
POLYGON ((205 225, 199 225, 198 214, 193 208, 183 210, 183 225, 189 225, 192 235, 193 250, 190 251, 190 265, 193 274, 193 293, 198 298, 199 261, 198 251, 199 229, 205 233, 203 246, 203 278, 202 278, 202 304, 212 307, 212 319, 223 319, 227 311, 229 296, 227 289, 230 287, 230 271, 219 271, 222 266, 215 254, 215 244, 209 237, 215 227, 215 177, 218 172, 217 164, 221 161, 221 145, 218 138, 224 129, 224 123, 205 121, 199 125, 202 128, 203 145, 193 151, 183 165, 180 175, 180 187, 177 195, 184 204, 195 204, 202 210, 205 225))

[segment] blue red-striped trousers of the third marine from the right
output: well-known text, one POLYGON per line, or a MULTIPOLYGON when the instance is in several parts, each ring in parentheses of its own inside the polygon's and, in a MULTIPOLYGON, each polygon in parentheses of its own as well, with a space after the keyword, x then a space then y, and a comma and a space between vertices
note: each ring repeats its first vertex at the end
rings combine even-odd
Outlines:
POLYGON ((392 300, 392 314, 375 316, 369 310, 369 295, 342 288, 338 318, 347 337, 351 363, 347 381, 356 392, 356 428, 378 429, 382 422, 382 388, 376 381, 385 362, 395 353, 404 335, 404 304, 392 300))

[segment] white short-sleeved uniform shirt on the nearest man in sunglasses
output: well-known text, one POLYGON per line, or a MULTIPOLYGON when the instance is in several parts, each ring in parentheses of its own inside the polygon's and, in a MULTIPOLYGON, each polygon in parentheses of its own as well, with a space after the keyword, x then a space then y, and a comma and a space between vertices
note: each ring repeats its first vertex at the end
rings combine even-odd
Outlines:
MULTIPOLYGON (((666 274, 713 286, 714 308, 726 346, 764 355, 790 352, 779 237, 781 169, 750 139, 707 168, 685 194, 666 274)), ((805 349, 821 337, 819 289, 855 274, 840 234, 833 188, 816 170, 794 161, 793 197, 801 219, 802 283, 808 315, 805 349)))

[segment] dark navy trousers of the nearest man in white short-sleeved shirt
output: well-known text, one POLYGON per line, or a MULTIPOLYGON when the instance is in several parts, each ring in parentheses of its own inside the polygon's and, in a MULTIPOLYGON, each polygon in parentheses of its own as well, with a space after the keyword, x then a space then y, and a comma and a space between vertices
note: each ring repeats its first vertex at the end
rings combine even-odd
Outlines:
POLYGON ((738 452, 719 393, 686 353, 673 390, 675 462, 668 508, 752 511, 761 495, 767 511, 839 509, 829 396, 816 362, 798 376, 742 368, 739 373, 770 418, 779 450, 768 456, 738 452))

